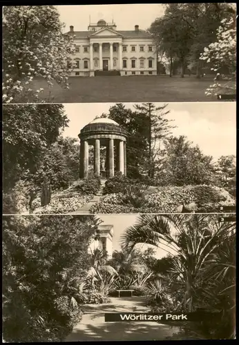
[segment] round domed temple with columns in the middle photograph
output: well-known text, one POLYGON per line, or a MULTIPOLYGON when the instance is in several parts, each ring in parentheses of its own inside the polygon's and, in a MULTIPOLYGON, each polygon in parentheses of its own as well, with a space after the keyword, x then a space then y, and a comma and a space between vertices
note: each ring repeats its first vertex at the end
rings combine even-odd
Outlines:
POLYGON ((94 173, 113 177, 115 171, 126 175, 126 131, 111 119, 95 119, 82 128, 79 138, 81 177, 88 177, 88 145, 94 146, 94 173), (105 164, 101 166, 100 147, 106 147, 105 164), (116 148, 116 150, 115 150, 116 148), (116 157, 115 157, 116 152, 116 157), (115 166, 116 161, 116 166, 115 166))

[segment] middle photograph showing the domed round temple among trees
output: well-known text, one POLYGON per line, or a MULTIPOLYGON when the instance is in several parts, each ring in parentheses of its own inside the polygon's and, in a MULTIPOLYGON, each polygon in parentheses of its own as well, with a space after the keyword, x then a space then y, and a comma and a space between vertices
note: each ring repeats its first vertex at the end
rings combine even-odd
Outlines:
POLYGON ((3 106, 3 214, 231 213, 236 104, 3 106))

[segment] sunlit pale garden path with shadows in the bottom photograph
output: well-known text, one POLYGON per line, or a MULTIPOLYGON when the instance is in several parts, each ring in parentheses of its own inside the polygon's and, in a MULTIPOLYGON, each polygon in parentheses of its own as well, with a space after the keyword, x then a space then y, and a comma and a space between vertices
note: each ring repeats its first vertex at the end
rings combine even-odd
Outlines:
POLYGON ((179 331, 178 327, 157 322, 104 322, 105 313, 147 312, 144 297, 111 297, 108 304, 87 304, 82 320, 65 341, 163 340, 179 331))

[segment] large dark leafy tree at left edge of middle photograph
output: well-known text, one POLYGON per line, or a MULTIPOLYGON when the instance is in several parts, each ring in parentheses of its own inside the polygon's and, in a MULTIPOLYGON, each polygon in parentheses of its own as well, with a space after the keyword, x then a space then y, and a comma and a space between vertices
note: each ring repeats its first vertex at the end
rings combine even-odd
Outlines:
POLYGON ((68 126, 60 104, 3 106, 3 189, 8 190, 37 164, 68 126))

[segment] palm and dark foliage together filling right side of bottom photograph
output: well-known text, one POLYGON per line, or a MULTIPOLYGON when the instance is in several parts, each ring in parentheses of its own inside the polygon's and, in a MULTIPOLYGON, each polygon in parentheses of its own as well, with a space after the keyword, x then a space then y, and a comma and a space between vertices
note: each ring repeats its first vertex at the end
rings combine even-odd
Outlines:
POLYGON ((171 255, 167 276, 149 283, 156 313, 221 312, 219 318, 184 324, 184 339, 234 339, 236 224, 217 215, 142 215, 122 235, 122 249, 150 244, 171 255), (165 246, 166 244, 166 246, 165 246))

